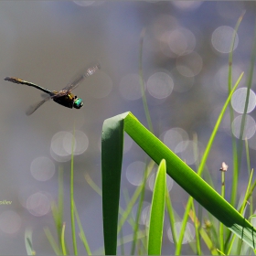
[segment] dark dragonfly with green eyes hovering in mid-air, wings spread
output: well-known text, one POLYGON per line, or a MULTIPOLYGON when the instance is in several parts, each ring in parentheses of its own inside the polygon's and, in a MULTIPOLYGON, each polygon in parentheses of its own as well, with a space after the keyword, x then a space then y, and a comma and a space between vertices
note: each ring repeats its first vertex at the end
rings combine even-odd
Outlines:
POLYGON ((27 80, 21 80, 18 78, 6 77, 5 80, 11 81, 17 84, 26 84, 28 86, 32 86, 34 88, 37 88, 40 91, 44 91, 45 93, 47 93, 47 94, 44 94, 45 97, 42 101, 39 101, 28 108, 26 114, 30 115, 33 112, 35 112, 43 103, 49 100, 53 100, 69 109, 72 109, 72 108, 80 109, 83 106, 83 101, 80 98, 78 98, 76 95, 71 93, 71 91, 77 88, 82 80, 93 75, 98 69, 101 69, 101 65, 99 63, 92 65, 91 68, 86 69, 84 72, 80 73, 80 75, 76 76, 74 80, 69 82, 69 84, 60 91, 49 91, 48 89, 45 89, 35 83, 29 82, 27 80))

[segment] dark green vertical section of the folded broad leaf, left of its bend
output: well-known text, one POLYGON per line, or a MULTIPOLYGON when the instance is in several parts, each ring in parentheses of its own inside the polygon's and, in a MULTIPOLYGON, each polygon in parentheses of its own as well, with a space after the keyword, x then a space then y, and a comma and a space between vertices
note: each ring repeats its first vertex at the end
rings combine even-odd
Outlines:
POLYGON ((115 255, 123 160, 123 116, 107 119, 101 135, 102 211, 105 254, 115 255))

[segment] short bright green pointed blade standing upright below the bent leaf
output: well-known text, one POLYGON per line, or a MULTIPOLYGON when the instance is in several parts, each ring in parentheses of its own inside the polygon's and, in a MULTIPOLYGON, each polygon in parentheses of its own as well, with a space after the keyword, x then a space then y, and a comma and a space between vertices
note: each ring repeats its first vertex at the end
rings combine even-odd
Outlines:
POLYGON ((165 217, 165 191, 166 162, 163 159, 155 178, 148 233, 148 255, 161 255, 165 217))

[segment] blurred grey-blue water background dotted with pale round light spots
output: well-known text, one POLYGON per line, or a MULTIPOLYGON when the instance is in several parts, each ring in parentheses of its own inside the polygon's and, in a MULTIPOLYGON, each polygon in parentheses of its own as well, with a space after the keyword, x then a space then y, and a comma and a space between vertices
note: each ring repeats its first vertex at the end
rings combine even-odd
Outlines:
MULTIPOLYGON (((27 228, 33 232, 37 254, 53 253, 44 228, 57 239, 50 204, 58 198, 59 166, 64 170, 64 220, 71 251, 69 160, 74 125, 74 197, 91 251, 102 249, 101 197, 87 184, 85 174, 101 187, 101 127, 105 119, 131 111, 148 127, 138 75, 144 28, 144 91, 155 135, 196 170, 193 137, 197 134, 201 154, 228 97, 233 28, 246 10, 233 59, 233 82, 245 71, 232 98, 234 134, 239 136, 255 6, 254 2, 240 1, 0 1, 0 254, 26 254, 27 228), (49 101, 27 116, 29 105, 40 101, 41 91, 4 80, 6 76, 17 77, 59 91, 96 61, 101 63, 101 70, 73 91, 84 101, 80 110, 49 101)), ((254 90, 255 81, 244 133, 249 139, 252 167, 256 161, 254 90)), ((208 169, 218 189, 222 162, 229 165, 228 190, 232 179, 230 133, 227 112, 208 158, 208 169)), ((124 152, 121 188, 132 197, 142 182, 147 158, 128 136, 124 152)), ((241 177, 240 194, 247 186, 245 162, 241 177)), ((152 197, 152 180, 145 194, 145 214, 152 197)), ((171 179, 168 186, 176 212, 182 216, 187 193, 171 179)), ((121 193, 121 206, 125 205, 121 193)), ((142 219, 141 225, 146 224, 146 218, 142 219)), ((193 233, 193 225, 189 229, 193 233)), ((132 229, 125 225, 123 235, 129 234, 132 229)), ((192 236, 184 242, 193 240, 192 236)), ((78 246, 84 254, 80 240, 78 246)), ((125 245, 128 254, 130 246, 125 245)), ((191 253, 188 244, 184 248, 183 253, 191 253)), ((166 221, 162 253, 174 251, 166 221)))

